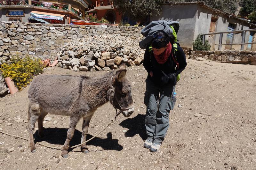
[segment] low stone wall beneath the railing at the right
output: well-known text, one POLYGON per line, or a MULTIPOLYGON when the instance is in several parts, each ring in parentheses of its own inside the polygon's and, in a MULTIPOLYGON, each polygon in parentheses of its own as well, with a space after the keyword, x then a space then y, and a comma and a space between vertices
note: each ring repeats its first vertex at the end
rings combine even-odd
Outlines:
POLYGON ((188 59, 212 60, 221 63, 241 63, 256 65, 256 51, 191 51, 188 59))

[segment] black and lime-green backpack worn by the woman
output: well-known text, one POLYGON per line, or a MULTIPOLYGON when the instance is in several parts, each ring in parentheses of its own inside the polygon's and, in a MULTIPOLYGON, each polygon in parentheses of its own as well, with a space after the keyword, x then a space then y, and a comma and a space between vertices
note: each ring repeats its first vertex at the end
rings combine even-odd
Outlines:
MULTIPOLYGON (((174 43, 173 43, 173 48, 174 48, 174 55, 172 55, 173 61, 176 63, 175 70, 179 69, 179 63, 177 60, 177 54, 178 54, 178 45, 179 40, 177 40, 177 33, 179 31, 179 24, 174 23, 173 25, 170 25, 170 28, 172 28, 172 35, 174 36, 174 43)), ((150 46, 148 48, 148 52, 152 51, 152 47, 150 46)), ((180 80, 180 74, 177 75, 177 82, 180 80)))

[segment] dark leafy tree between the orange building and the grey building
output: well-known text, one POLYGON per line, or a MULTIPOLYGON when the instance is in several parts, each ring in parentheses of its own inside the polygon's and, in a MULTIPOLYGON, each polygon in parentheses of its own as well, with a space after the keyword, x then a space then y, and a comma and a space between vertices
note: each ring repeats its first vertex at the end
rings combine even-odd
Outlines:
POLYGON ((147 16, 153 13, 161 14, 162 8, 160 4, 163 2, 163 0, 114 0, 113 5, 119 13, 140 21, 139 26, 142 26, 147 16))

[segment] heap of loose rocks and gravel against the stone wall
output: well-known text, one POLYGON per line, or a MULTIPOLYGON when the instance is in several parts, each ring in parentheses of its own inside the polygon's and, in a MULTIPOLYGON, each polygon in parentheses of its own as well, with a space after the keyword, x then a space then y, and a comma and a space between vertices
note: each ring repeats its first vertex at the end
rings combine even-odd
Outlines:
POLYGON ((60 48, 58 66, 74 71, 117 69, 121 63, 140 65, 144 50, 124 36, 93 36, 73 40, 60 48))

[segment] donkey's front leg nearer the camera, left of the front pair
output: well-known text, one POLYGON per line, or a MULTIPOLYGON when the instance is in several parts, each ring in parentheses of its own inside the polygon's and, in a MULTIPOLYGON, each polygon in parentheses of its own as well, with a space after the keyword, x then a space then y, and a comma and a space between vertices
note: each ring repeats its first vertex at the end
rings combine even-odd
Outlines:
POLYGON ((80 117, 78 117, 78 116, 70 116, 67 139, 65 141, 65 144, 62 147, 61 156, 63 158, 68 158, 68 146, 69 146, 69 143, 70 143, 72 137, 74 136, 76 124, 79 121, 79 119, 80 119, 80 117))

